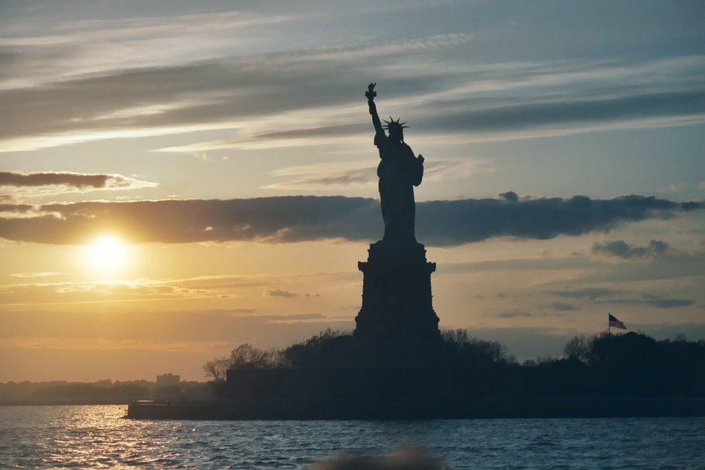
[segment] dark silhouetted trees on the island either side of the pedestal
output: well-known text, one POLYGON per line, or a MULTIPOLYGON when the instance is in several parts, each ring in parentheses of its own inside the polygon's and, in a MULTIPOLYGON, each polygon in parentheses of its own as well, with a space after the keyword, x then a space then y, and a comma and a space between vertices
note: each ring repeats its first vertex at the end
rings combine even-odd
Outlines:
MULTIPOLYGON (((579 334, 565 343, 565 357, 519 364, 499 342, 472 338, 462 329, 441 333, 440 345, 423 348, 421 354, 436 359, 424 365, 465 370, 461 373, 467 380, 489 396, 514 390, 525 396, 705 397, 705 340, 682 335, 655 340, 634 332, 579 334), (504 385, 500 389, 492 383, 504 385)), ((351 332, 329 328, 282 349, 240 345, 229 356, 208 361, 204 370, 222 384, 228 369, 357 366, 354 358, 362 351, 357 346, 351 332)))

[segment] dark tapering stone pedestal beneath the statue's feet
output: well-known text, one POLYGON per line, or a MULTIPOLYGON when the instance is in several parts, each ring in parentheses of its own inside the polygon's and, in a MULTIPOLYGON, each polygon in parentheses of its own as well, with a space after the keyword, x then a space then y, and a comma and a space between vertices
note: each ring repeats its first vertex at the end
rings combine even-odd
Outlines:
POLYGON ((355 340, 440 341, 439 317, 431 302, 431 273, 424 245, 370 245, 364 274, 362 309, 355 317, 355 340))

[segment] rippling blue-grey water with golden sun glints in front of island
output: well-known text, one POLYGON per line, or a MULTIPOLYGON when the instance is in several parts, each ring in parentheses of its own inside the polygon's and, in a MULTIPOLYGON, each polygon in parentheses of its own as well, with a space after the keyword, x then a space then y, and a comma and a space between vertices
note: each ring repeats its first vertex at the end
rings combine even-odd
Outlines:
POLYGON ((125 409, 0 407, 0 468, 306 469, 417 445, 450 469, 705 469, 705 418, 134 421, 125 409))

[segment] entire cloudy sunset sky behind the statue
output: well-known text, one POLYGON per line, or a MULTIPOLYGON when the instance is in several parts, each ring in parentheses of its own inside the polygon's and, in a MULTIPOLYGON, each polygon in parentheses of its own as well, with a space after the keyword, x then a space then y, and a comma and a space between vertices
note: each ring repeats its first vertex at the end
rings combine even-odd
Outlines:
POLYGON ((441 328, 705 338, 705 1, 0 0, 0 381, 205 380, 352 330, 364 92, 441 328))

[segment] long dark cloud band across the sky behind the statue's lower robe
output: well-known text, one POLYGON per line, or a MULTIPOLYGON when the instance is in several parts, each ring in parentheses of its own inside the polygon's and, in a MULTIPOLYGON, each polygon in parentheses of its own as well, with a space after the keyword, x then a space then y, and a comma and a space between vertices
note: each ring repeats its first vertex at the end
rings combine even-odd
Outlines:
MULTIPOLYGON (((0 237, 56 245, 82 244, 106 232, 131 242, 163 243, 369 241, 381 235, 379 202, 360 197, 77 202, 44 204, 31 211, 18 206, 17 213, 13 207, 5 204, 3 208, 6 216, 0 218, 0 237)), ((434 246, 491 237, 547 240, 558 235, 606 233, 624 223, 665 220, 702 208, 700 202, 635 195, 419 202, 417 237, 434 246)))

